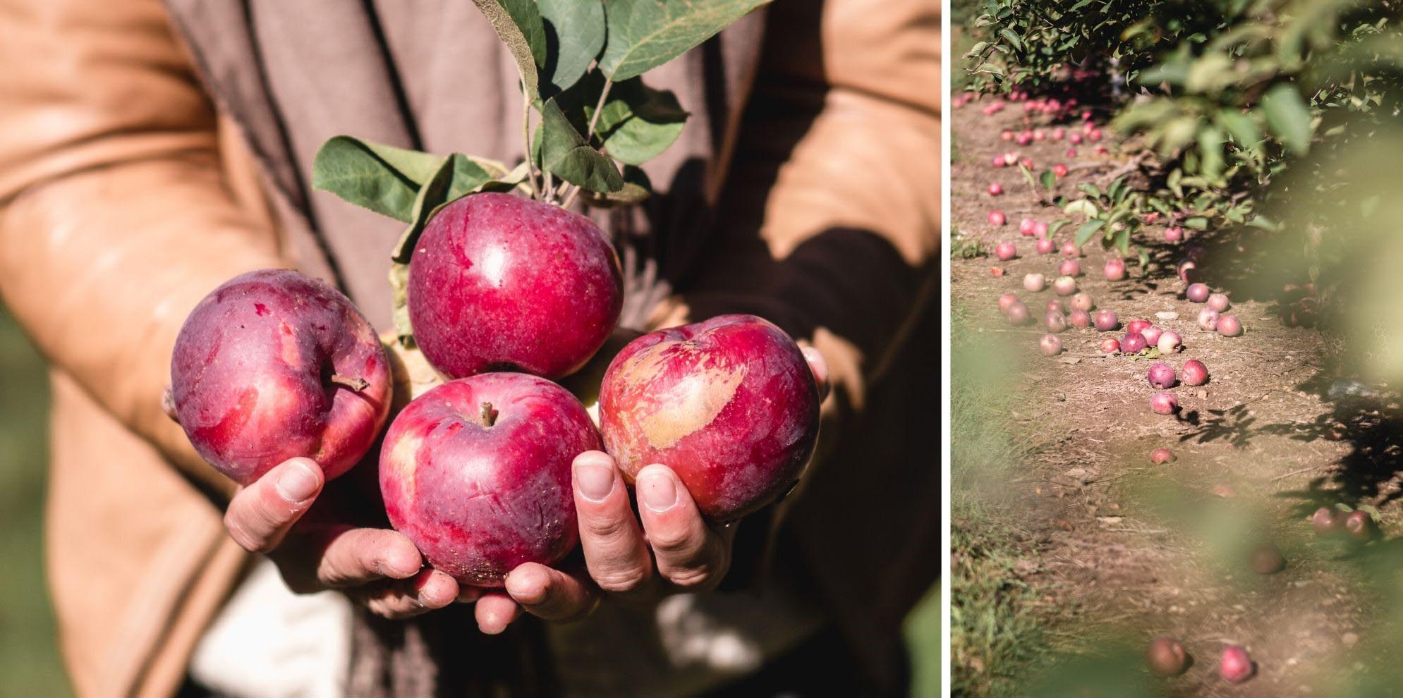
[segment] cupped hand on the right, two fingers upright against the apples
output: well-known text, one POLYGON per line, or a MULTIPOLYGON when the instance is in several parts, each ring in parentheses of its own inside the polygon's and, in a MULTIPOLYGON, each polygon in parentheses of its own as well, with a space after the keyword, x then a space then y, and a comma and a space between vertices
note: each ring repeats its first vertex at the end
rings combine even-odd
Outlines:
MULTIPOLYGON (((822 355, 805 346, 804 357, 819 394, 826 395, 822 355)), ((671 468, 652 464, 638 471, 637 514, 609 454, 582 453, 572 468, 585 569, 535 562, 518 566, 506 575, 504 590, 478 598, 476 617, 483 632, 502 632, 522 610, 549 621, 570 621, 588 615, 605 596, 647 603, 675 591, 707 591, 725 577, 737 524, 706 521, 671 468)))

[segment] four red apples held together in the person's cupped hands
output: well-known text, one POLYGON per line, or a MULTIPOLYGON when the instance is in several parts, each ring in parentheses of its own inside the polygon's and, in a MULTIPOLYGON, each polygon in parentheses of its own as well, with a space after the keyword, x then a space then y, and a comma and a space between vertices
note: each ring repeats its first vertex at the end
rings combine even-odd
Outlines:
POLYGON ((630 484, 666 464, 713 521, 774 500, 812 453, 818 385, 794 341, 753 315, 627 343, 595 385, 595 426, 556 383, 599 352, 623 303, 617 255, 585 216, 467 195, 429 219, 408 275, 414 341, 445 383, 387 430, 390 355, 338 290, 265 269, 206 296, 177 339, 168 395, 199 454, 240 485, 293 457, 330 479, 383 430, 390 524, 434 568, 499 587, 577 545, 571 463, 584 451, 610 453, 630 484))

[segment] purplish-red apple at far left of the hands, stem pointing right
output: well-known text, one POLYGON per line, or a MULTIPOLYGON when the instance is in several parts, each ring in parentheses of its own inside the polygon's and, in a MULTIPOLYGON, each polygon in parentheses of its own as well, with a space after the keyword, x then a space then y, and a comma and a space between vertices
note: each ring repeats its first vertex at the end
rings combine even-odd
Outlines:
POLYGON ((171 355, 174 418, 219 472, 247 485, 296 457, 351 470, 390 411, 390 364, 365 317, 288 269, 236 276, 195 306, 171 355))

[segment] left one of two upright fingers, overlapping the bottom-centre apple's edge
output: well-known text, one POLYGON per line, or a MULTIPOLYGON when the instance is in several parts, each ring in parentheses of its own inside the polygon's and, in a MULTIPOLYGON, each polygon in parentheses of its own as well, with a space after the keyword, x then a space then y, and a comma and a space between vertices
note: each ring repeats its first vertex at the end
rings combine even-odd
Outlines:
POLYGON ((629 505, 629 489, 603 451, 575 457, 575 513, 589 576, 605 591, 627 593, 652 577, 652 558, 629 505))

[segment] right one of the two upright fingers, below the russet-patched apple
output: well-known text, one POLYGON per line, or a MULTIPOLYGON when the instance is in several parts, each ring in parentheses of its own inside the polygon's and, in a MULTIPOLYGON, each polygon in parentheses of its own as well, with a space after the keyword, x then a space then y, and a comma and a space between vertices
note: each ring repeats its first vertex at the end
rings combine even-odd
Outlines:
POLYGON ((682 479, 654 464, 638 471, 634 489, 658 575, 687 589, 720 583, 731 563, 730 545, 702 519, 682 479))

